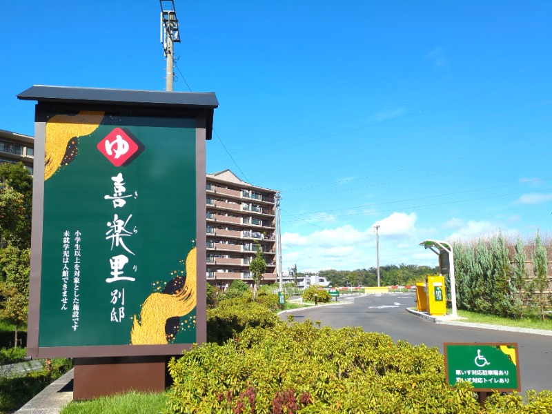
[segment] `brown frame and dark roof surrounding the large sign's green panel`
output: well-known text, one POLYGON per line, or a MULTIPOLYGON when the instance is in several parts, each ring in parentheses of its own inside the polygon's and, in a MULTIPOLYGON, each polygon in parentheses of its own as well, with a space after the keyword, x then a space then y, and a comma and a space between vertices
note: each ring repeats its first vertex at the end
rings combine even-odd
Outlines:
POLYGON ((196 246, 197 330, 196 343, 206 342, 206 139, 213 128, 218 106, 214 93, 157 92, 98 88, 32 86, 19 99, 38 101, 35 112, 34 188, 28 348, 31 357, 139 357, 179 355, 192 344, 39 346, 41 317, 41 263, 43 243, 44 155, 46 114, 52 110, 103 110, 132 116, 188 117, 195 119, 196 139, 196 246))

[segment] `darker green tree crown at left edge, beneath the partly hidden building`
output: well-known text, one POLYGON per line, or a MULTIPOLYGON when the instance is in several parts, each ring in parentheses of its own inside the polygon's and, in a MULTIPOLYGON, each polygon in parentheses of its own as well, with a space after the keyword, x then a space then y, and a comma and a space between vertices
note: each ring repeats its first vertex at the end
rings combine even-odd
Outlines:
POLYGON ((32 177, 21 163, 0 164, 0 238, 30 248, 32 177))

